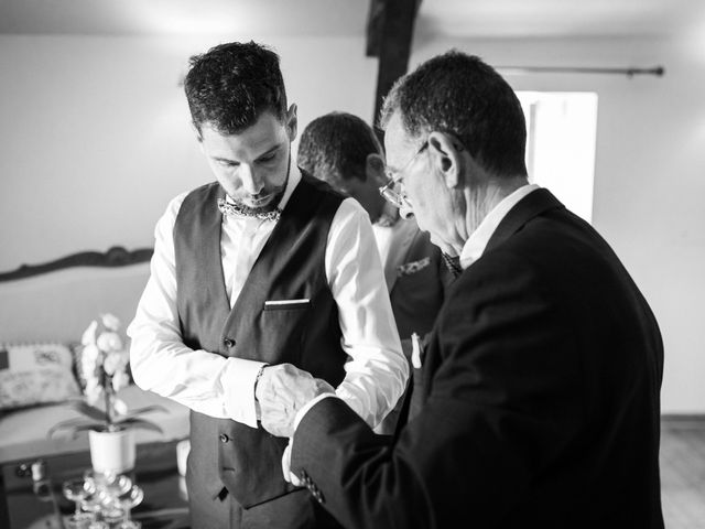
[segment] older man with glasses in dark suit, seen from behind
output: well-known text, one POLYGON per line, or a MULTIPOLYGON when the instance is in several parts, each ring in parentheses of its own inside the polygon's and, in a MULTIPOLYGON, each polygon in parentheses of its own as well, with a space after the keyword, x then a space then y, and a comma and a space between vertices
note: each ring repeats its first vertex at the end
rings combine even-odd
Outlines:
POLYGON ((392 88, 382 125, 386 196, 462 272, 397 439, 273 368, 257 392, 293 435, 290 478, 345 527, 662 528, 657 321, 595 229, 529 184, 510 86, 452 51, 392 88))

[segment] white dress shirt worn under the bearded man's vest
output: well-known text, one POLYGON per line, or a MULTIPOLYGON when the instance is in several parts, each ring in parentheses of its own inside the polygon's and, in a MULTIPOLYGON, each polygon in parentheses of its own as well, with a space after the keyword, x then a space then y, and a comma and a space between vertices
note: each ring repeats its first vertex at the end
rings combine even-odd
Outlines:
MULTIPOLYGON (((292 162, 281 208, 300 181, 292 162)), ((257 428, 254 379, 263 364, 194 350, 182 342, 173 228, 186 195, 172 199, 156 224, 151 277, 128 327, 132 375, 141 388, 197 412, 257 428)), ((231 307, 274 226, 272 220, 224 215, 220 251, 231 307)), ((333 218, 325 270, 338 306, 341 347, 349 355, 336 395, 373 427, 402 395, 409 369, 369 217, 352 199, 343 201, 333 218)))

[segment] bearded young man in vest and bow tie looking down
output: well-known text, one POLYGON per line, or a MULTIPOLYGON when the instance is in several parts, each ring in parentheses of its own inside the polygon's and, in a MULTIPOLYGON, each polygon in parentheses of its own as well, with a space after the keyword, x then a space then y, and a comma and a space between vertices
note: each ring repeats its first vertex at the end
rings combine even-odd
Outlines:
POLYGON ((324 528, 282 476, 286 440, 258 423, 256 387, 288 363, 377 425, 408 377, 367 213, 302 175, 279 57, 250 43, 191 60, 184 82, 216 181, 175 197, 129 327, 143 389, 191 408, 192 527, 324 528), (322 382, 323 384, 323 382, 322 382))

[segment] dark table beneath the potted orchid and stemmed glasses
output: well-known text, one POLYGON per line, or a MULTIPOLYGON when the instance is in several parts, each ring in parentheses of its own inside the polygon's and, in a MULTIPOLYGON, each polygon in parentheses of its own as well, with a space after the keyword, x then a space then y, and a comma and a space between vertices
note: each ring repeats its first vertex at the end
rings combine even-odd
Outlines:
MULTIPOLYGON (((2 464, 0 527, 8 529, 61 529, 74 503, 62 494, 62 484, 80 477, 90 467, 87 451, 2 464)), ((142 529, 188 528, 186 484, 176 469, 176 441, 137 446, 134 469, 127 473, 144 490, 132 519, 142 529)))

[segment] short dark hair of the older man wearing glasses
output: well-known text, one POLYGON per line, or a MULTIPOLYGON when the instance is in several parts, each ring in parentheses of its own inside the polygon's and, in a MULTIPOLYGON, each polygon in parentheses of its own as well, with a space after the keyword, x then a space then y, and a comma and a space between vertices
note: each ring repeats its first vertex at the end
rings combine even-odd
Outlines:
POLYGON ((400 78, 384 98, 382 128, 397 111, 411 137, 451 133, 492 174, 527 174, 521 104, 509 84, 477 56, 451 50, 400 78))

